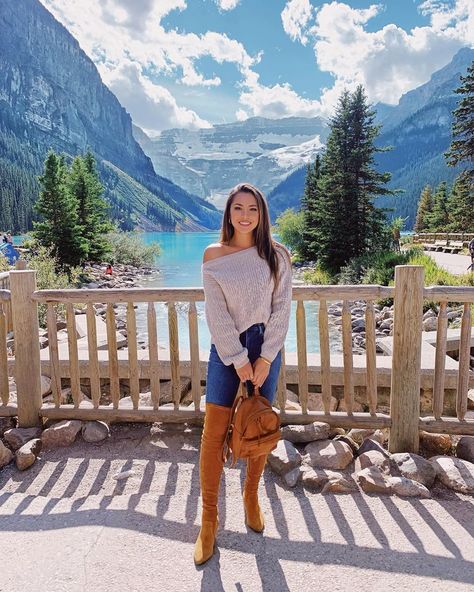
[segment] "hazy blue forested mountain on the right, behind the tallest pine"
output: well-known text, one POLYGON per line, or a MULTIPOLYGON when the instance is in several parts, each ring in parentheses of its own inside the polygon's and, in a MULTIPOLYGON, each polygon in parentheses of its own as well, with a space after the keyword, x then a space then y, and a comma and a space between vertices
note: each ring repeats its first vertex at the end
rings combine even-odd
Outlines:
MULTIPOLYGON (((380 197, 376 204, 391 209, 390 217, 407 217, 406 228, 413 227, 423 187, 435 187, 441 181, 450 184, 459 173, 459 169, 446 165, 444 152, 451 143, 452 112, 460 100, 454 90, 473 59, 474 49, 462 48, 426 84, 404 94, 398 105, 374 107, 376 123, 382 125, 376 144, 393 147, 376 155, 377 168, 392 174, 391 188, 404 191, 394 197, 380 197)), ((305 169, 300 168, 269 193, 274 217, 288 207, 299 209, 304 179, 305 169)))

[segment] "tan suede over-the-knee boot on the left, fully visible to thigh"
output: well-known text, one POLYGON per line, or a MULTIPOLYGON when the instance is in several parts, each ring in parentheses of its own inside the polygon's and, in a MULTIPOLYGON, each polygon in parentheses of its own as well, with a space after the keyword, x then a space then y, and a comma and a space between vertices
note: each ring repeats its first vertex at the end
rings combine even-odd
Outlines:
POLYGON ((201 480, 202 521, 194 547, 194 562, 204 563, 214 553, 217 533, 217 497, 224 461, 222 445, 227 433, 231 409, 214 403, 206 404, 201 439, 199 473, 201 480))

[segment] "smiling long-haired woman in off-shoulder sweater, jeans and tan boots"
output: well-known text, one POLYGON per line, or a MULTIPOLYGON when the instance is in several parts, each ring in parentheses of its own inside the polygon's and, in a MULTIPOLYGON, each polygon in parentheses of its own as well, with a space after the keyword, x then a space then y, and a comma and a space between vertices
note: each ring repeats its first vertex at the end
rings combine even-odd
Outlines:
MULTIPOLYGON (((196 564, 214 552, 222 446, 239 385, 245 382, 249 392, 257 386, 273 402, 290 317, 290 254, 272 240, 265 198, 249 183, 230 192, 220 240, 206 248, 202 275, 211 351, 199 461, 202 522, 196 564)), ((246 524, 257 532, 264 529, 258 483, 265 462, 266 456, 247 462, 243 491, 246 524)))

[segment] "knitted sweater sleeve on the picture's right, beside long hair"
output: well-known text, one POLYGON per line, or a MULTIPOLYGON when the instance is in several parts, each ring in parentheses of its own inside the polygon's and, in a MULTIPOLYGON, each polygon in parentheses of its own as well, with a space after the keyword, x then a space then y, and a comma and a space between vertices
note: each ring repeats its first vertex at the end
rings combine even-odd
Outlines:
POLYGON ((286 249, 277 249, 280 254, 279 283, 272 294, 272 312, 265 326, 261 355, 273 362, 285 344, 290 323, 292 270, 291 260, 286 249))

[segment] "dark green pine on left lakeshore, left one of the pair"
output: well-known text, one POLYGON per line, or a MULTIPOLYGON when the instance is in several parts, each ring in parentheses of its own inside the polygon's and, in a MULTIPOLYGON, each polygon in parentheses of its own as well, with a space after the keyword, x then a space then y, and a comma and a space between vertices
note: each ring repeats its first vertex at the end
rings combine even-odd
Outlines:
POLYGON ((62 156, 49 152, 42 187, 35 209, 41 217, 34 223, 34 235, 44 246, 51 247, 61 266, 79 265, 87 253, 77 218, 77 201, 66 187, 67 168, 62 156))

